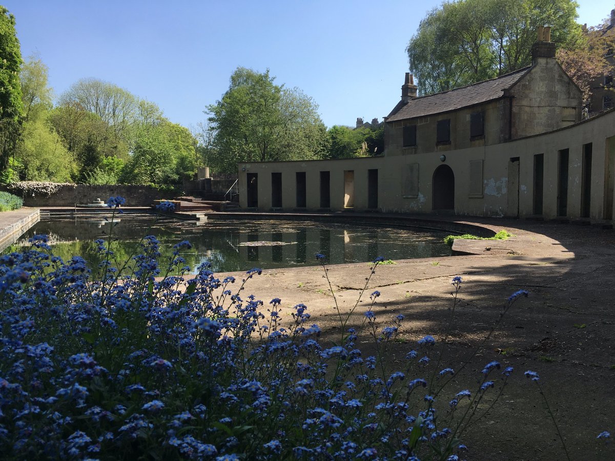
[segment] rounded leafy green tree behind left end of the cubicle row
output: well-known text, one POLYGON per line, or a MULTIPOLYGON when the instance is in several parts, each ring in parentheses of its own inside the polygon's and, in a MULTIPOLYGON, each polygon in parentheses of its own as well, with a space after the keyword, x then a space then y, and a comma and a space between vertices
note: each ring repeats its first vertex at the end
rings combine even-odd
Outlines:
POLYGON ((237 162, 320 158, 326 130, 312 98, 276 85, 269 70, 237 68, 216 104, 207 106, 218 171, 237 162))

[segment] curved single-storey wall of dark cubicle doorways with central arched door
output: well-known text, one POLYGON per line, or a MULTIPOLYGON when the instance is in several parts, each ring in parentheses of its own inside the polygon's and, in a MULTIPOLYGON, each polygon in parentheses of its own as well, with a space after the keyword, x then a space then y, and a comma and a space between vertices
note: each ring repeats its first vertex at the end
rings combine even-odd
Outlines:
POLYGON ((259 211, 435 212, 602 222, 615 215, 614 178, 611 110, 541 135, 445 154, 239 164, 239 194, 241 208, 259 211), (446 171, 451 175, 442 175, 446 171), (276 187, 281 197, 274 207, 276 187), (438 205, 443 194, 451 208, 438 205), (349 198, 352 205, 346 206, 349 198))

